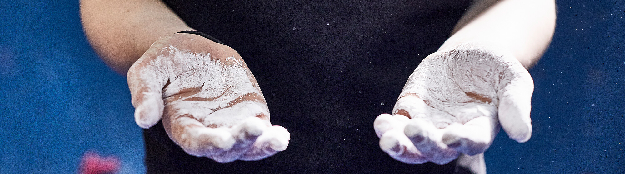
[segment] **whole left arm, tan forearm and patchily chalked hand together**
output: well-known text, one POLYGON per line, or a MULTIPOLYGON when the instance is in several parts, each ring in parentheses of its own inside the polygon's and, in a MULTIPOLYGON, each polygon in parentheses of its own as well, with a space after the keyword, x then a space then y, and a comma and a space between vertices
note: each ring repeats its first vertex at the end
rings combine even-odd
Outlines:
POLYGON ((174 34, 193 29, 163 2, 81 1, 81 19, 104 62, 128 75, 140 127, 162 120, 185 152, 221 163, 286 149, 290 134, 269 122, 239 53, 199 35, 174 34))

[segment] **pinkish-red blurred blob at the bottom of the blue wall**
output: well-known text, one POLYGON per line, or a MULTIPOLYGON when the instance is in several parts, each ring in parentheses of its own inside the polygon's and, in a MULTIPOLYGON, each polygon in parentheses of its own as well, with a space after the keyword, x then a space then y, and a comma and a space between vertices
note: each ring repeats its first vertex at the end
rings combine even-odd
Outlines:
POLYGON ((79 174, 115 174, 119 171, 119 158, 116 156, 100 157, 96 152, 83 155, 79 174))

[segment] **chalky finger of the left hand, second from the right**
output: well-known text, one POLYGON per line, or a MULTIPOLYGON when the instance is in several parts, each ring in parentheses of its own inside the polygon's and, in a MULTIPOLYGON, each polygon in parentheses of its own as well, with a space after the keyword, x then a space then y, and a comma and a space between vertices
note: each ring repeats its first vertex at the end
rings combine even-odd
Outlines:
POLYGON ((268 121, 258 117, 248 117, 242 124, 233 126, 230 129, 232 137, 236 140, 232 149, 213 155, 211 158, 219 163, 233 162, 248 152, 256 139, 271 126, 268 121))

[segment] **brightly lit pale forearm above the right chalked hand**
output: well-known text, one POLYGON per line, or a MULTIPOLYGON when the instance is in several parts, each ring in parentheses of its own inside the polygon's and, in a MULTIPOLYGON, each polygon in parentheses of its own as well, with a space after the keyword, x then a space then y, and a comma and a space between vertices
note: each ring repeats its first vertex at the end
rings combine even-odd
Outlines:
POLYGON ((549 46, 555 27, 553 0, 479 0, 439 50, 459 43, 487 43, 512 53, 529 68, 549 46))

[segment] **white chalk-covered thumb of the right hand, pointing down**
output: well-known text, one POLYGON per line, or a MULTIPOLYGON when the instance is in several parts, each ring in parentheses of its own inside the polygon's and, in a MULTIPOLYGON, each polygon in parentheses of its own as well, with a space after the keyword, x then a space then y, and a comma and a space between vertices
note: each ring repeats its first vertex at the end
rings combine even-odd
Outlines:
POLYGON ((499 122, 506 134, 517 142, 527 142, 532 135, 531 111, 532 77, 520 64, 512 66, 497 91, 499 122))

